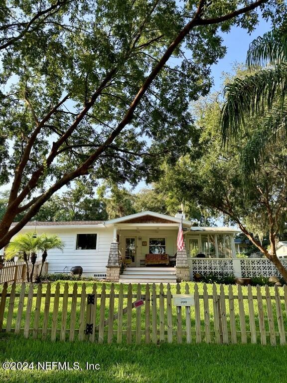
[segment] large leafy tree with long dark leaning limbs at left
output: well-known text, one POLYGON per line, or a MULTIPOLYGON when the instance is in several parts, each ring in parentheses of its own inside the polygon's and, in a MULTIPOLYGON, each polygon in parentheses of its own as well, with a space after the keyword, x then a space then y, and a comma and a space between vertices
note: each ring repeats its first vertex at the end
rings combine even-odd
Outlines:
POLYGON ((257 9, 286 14, 276 0, 55 4, 10 1, 1 13, 0 183, 11 189, 0 248, 78 177, 152 180, 162 156, 171 163, 192 141, 188 105, 225 53, 219 31, 252 30, 257 9))

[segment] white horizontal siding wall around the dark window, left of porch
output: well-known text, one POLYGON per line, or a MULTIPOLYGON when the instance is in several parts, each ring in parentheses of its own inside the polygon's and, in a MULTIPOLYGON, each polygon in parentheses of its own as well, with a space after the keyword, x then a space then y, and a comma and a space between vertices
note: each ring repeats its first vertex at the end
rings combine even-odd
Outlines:
MULTIPOLYGON (((21 232, 34 231, 31 228, 22 229, 21 232)), ((106 273, 110 245, 113 241, 112 228, 37 228, 37 233, 57 234, 65 243, 63 251, 52 249, 48 251, 49 273, 70 272, 72 266, 82 266, 83 274, 94 276, 96 273, 106 273), (96 250, 76 250, 77 234, 97 233, 96 250)), ((40 257, 41 254, 39 253, 40 257)))

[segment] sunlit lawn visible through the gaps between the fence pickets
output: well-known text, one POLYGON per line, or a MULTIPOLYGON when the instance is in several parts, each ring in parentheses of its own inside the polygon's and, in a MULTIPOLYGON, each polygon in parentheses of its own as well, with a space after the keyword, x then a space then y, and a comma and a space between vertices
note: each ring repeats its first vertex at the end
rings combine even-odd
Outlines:
MULTIPOLYGON (((59 282, 60 292, 63 293, 65 283, 67 283, 69 286, 69 293, 72 293, 73 285, 75 283, 74 281, 68 281, 68 282, 60 281, 59 282)), ((88 281, 88 282, 79 281, 79 282, 77 282, 78 294, 81 293, 81 288, 82 288, 83 283, 86 284, 87 293, 91 293, 93 290, 94 282, 93 281, 88 281)), ((100 293, 102 290, 103 283, 97 282, 96 284, 97 284, 97 292, 100 293)), ((52 293, 55 292, 56 285, 57 285, 57 282, 51 283, 51 292, 52 293)), ((180 284, 181 292, 184 292, 185 285, 186 285, 185 283, 180 284)), ((190 290, 191 294, 194 292, 194 285, 195 284, 193 282, 188 283, 189 290, 190 290)), ((43 284, 43 293, 45 293, 46 287, 47 287, 47 284, 43 284)), ((198 287, 199 287, 199 294, 203 294, 203 284, 198 283, 198 287)), ((2 286, 1 286, 1 288, 2 288, 2 286)), ((16 286, 16 292, 17 293, 20 292, 20 288, 21 288, 21 285, 18 284, 16 286)), ((111 288, 111 283, 106 283, 107 294, 109 294, 110 288, 111 288)), ((212 285, 208 284, 207 288, 208 288, 208 293, 212 294, 212 285)), ((8 286, 8 292, 10 291, 10 289, 11 289, 11 286, 8 286)), ((34 286, 34 293, 36 293, 36 290, 37 290, 37 285, 34 286)), ((224 290, 225 290, 225 294, 228 295, 228 286, 224 286, 224 290)), ((119 284, 115 284, 115 293, 117 294, 118 291, 119 291, 119 284)), ((128 291, 128 285, 124 285, 124 293, 127 294, 127 291, 128 291)), ((136 294, 136 291, 137 291, 137 285, 133 285, 133 293, 136 294)), ((145 286, 142 285, 142 292, 144 292, 144 291, 145 291, 145 286)), ((156 291, 158 294, 159 293, 159 285, 156 285, 156 291)), ((217 291, 219 293, 219 285, 217 286, 217 291)), ((253 291, 253 295, 256 295, 256 288, 255 287, 252 288, 252 291, 253 291)), ((262 295, 265 295, 264 287, 261 288, 261 291, 262 291, 262 295)), ((28 285, 26 286, 26 292, 28 292, 28 285)), ((166 293, 166 286, 164 287, 164 292, 166 293)), ((171 292, 172 293, 176 292, 176 285, 171 285, 171 292)), ((233 292, 234 292, 234 295, 237 295, 237 286, 233 286, 233 292)), ((274 288, 270 288, 270 293, 271 293, 271 296, 274 296, 274 288)), ((243 295, 245 295, 245 296, 247 295, 247 288, 246 287, 243 287, 243 295)), ((280 288, 280 295, 281 296, 284 295, 282 288, 280 288)), ((51 298, 48 328, 51 328, 51 326, 52 326, 53 300, 54 300, 54 298, 51 298)), ((135 300, 135 298, 133 300, 135 300)), ((19 298, 16 297, 15 304, 14 304, 13 318, 12 318, 12 328, 15 327, 18 301, 19 301, 19 298)), ((36 301, 36 299, 34 298, 33 299, 33 305, 32 305, 30 328, 33 328, 35 301, 36 301)), ((62 301, 63 301, 63 298, 60 298, 59 314, 58 314, 58 318, 57 318, 57 328, 58 329, 61 328, 62 301)), ((167 316, 167 314, 166 314, 166 300, 164 300, 164 301, 165 301, 165 324, 166 324, 166 319, 167 319, 166 318, 166 316, 167 316)), ((284 318, 285 328, 287 328, 286 307, 285 307, 284 300, 282 300, 281 302, 282 302, 282 310, 283 310, 283 318, 284 318)), ((5 328, 5 320, 6 320, 7 311, 8 311, 8 304, 9 304, 9 299, 7 298, 6 305, 5 305, 3 328, 5 328)), ((22 315, 21 328, 24 327, 24 323, 25 323, 25 305, 26 304, 27 304, 27 297, 25 298, 25 301, 24 301, 24 310, 23 310, 23 315, 22 315)), ((43 323, 44 304, 45 304, 45 298, 43 297, 42 301, 41 301, 39 328, 42 327, 42 323, 43 323)), ((124 307, 126 305, 127 305, 127 299, 124 299, 124 307)), ((158 299, 157 299, 157 305, 158 305, 158 299)), ((265 299, 263 300, 263 305, 264 305, 264 312, 265 312, 265 327, 266 327, 266 331, 269 331, 269 322, 268 322, 267 307, 266 307, 265 299)), ((235 307, 235 318, 236 318, 236 330, 240 331, 239 307, 238 307, 238 300, 237 299, 234 299, 234 307, 235 307)), ((245 307, 246 328, 247 328, 247 331, 249 331, 249 314, 248 314, 249 313, 249 307, 248 307, 247 299, 244 299, 244 307, 245 307)), ((100 308, 100 299, 98 299, 98 302, 97 302, 97 313, 98 313, 97 315, 99 315, 99 308, 100 308)), ((279 329, 278 329, 277 314, 276 314, 276 303, 275 303, 274 299, 272 300, 272 308, 273 308, 273 314, 274 314, 275 331, 278 332, 279 329)), ((71 298, 69 298, 69 300, 68 300, 68 315, 67 315, 67 327, 66 327, 67 329, 69 329, 70 311, 71 311, 71 298)), ((115 299, 115 312, 117 312, 117 311, 118 311, 118 299, 115 299)), ((228 303, 228 300, 226 300, 226 311, 227 311, 227 322, 228 322, 228 326, 229 326, 229 303, 228 303)), ((256 299, 254 299, 254 311, 255 311, 256 331, 259 332, 260 329, 259 329, 259 319, 258 319, 258 305, 257 305, 256 299)), ((145 313, 145 307, 143 306, 141 309, 142 330, 144 330, 144 327, 145 327, 144 313, 145 313)), ((209 313, 210 313, 211 331, 213 331, 214 326, 213 326, 213 303, 212 303, 212 299, 209 299, 209 313)), ((78 300, 77 300, 76 329, 79 328, 79 314, 80 314, 80 298, 78 298, 78 300)), ((107 318, 108 315, 109 315, 109 298, 106 299, 105 317, 107 318)), ((158 310, 158 306, 157 306, 157 325, 159 324, 158 315, 159 315, 159 310, 158 310)), ((205 322, 204 322, 204 310, 203 310, 202 299, 200 299, 200 319, 201 319, 201 321, 200 321, 201 330, 204 331, 205 322)), ((98 320, 97 320, 97 323, 98 323, 98 320)), ((126 326, 127 326, 127 315, 124 315, 123 328, 126 329, 126 326)), ((173 330, 176 330, 176 328, 177 328, 176 307, 174 307, 174 306, 172 307, 172 327, 173 327, 173 330)), ((135 330, 135 328, 136 328, 136 310, 133 310, 133 313, 132 313, 132 328, 133 328, 133 330, 135 330)), ((185 330, 185 310, 184 309, 182 310, 182 329, 183 329, 183 331, 185 330)), ((114 330, 117 330, 117 321, 114 321, 114 330)), ((194 307, 191 308, 191 330, 193 332, 195 331, 194 307)), ((260 342, 259 337, 258 337, 258 342, 260 342)))

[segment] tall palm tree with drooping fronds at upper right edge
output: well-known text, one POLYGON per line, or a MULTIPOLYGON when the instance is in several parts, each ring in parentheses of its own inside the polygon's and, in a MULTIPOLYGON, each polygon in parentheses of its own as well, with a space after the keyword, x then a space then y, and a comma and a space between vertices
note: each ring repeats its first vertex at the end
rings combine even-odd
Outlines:
POLYGON ((256 169, 267 148, 287 142, 287 31, 281 27, 255 39, 247 64, 254 73, 225 86, 221 114, 224 144, 248 131, 247 117, 259 122, 241 154, 244 175, 256 169))

